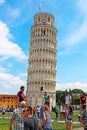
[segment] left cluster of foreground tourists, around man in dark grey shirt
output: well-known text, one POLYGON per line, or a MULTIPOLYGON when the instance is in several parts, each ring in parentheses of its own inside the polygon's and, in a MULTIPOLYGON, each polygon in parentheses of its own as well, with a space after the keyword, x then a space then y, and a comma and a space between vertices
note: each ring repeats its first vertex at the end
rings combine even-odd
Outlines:
POLYGON ((52 122, 50 116, 50 96, 47 91, 44 92, 43 106, 27 106, 26 97, 24 95, 24 86, 21 86, 17 93, 18 108, 14 109, 10 119, 9 130, 52 130, 52 122), (38 123, 39 120, 39 123, 38 123))

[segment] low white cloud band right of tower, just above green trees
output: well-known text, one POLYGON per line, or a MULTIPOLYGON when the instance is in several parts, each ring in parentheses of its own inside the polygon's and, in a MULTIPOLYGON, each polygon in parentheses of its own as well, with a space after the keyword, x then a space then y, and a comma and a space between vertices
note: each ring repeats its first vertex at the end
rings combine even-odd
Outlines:
POLYGON ((81 89, 83 91, 87 91, 87 83, 80 83, 80 82, 75 82, 75 83, 65 83, 65 84, 56 84, 56 90, 63 90, 65 91, 66 89, 81 89))

